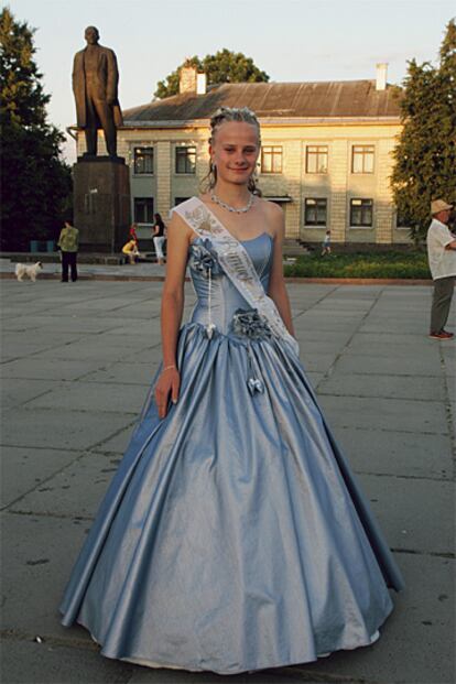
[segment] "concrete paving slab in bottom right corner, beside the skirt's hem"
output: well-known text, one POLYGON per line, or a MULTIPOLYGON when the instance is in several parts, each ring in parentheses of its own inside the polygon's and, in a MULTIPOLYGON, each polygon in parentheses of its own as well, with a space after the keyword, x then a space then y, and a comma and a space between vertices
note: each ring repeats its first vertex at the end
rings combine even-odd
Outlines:
POLYGON ((303 667, 307 676, 340 684, 452 684, 455 562, 397 554, 406 588, 393 594, 395 609, 369 648, 334 653, 303 667), (438 582, 434 579, 438 577, 438 582), (324 675, 327 675, 327 678, 324 675))

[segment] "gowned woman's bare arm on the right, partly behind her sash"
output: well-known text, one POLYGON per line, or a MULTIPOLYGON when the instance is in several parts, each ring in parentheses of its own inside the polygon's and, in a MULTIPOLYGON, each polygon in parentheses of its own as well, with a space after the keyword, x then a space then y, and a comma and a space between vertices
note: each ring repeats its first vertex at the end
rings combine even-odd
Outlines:
POLYGON ((283 256, 282 245, 285 235, 285 221, 282 209, 272 203, 268 203, 269 224, 273 230, 274 245, 272 256, 271 278, 269 281, 269 296, 274 301, 275 306, 285 324, 290 335, 294 337, 292 312, 290 300, 283 278, 283 256))

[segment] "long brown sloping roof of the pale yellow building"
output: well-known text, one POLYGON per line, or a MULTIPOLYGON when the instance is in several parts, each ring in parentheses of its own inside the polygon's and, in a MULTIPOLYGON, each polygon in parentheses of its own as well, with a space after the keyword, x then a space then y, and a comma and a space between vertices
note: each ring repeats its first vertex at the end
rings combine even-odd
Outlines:
POLYGON ((374 80, 221 84, 205 95, 184 93, 123 111, 127 127, 207 121, 218 107, 249 107, 260 119, 398 119, 397 88, 374 80))

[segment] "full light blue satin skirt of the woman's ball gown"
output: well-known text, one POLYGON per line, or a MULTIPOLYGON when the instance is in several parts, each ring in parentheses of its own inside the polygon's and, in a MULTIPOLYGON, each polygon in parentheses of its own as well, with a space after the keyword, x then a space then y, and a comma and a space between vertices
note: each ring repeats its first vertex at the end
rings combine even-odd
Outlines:
POLYGON ((369 644, 402 577, 297 357, 191 323, 178 366, 163 420, 152 383, 63 625, 108 658, 220 674, 369 644))

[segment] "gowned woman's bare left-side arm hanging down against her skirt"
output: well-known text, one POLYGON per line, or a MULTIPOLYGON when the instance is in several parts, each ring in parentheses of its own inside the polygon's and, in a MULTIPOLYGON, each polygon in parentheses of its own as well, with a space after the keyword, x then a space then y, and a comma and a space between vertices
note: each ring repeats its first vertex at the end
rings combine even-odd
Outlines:
POLYGON ((173 403, 178 399, 181 378, 176 350, 184 310, 185 269, 191 236, 192 229, 174 214, 169 226, 166 278, 161 307, 163 371, 155 388, 160 417, 166 415, 170 392, 173 403))

